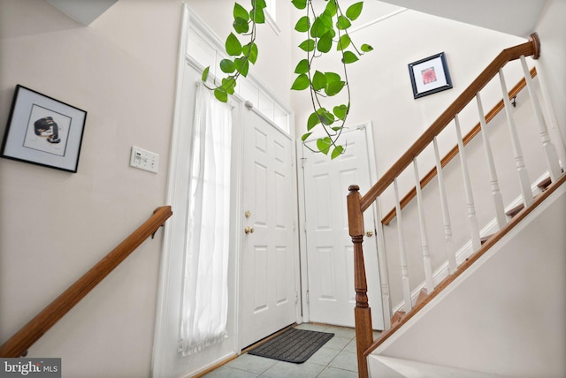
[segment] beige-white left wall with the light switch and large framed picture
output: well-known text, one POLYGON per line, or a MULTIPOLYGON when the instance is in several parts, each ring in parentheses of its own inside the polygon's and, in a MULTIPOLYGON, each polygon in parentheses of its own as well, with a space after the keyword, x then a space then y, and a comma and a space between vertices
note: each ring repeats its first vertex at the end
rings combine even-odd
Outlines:
MULTIPOLYGON (((89 27, 43 0, 0 3, 0 132, 16 84, 88 111, 78 172, 0 159, 4 342, 164 205, 178 0, 123 0, 89 27), (159 173, 128 166, 132 145, 159 173)), ((65 377, 149 376, 162 231, 29 351, 65 377)))

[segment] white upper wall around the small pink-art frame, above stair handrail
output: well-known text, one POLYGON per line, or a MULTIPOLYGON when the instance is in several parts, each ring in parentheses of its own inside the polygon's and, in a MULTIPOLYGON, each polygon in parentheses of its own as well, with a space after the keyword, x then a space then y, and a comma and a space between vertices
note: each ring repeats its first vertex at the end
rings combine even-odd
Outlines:
MULTIPOLYGON (((395 8, 386 5, 387 8, 379 10, 380 16, 394 11, 395 8)), ((353 27, 362 26, 364 21, 356 21, 353 27)), ((351 37, 358 44, 371 44, 374 50, 358 62, 348 65, 348 80, 353 94, 347 125, 371 121, 378 177, 391 167, 502 49, 525 42, 509 34, 410 10, 364 27, 352 33, 351 37), (415 100, 408 64, 442 51, 446 52, 454 87, 415 100)), ((304 35, 294 32, 295 45, 302 39, 304 35)), ((294 49, 296 62, 303 55, 294 49)), ((340 66, 328 63, 324 68, 335 72, 340 70, 340 66)), ((512 83, 509 86, 515 85, 516 79, 510 79, 509 82, 512 83)), ((494 104, 494 100, 486 99, 486 102, 491 102, 491 106, 494 104)), ((297 135, 301 135, 306 132, 306 119, 312 112, 306 91, 294 92, 294 110, 297 135)), ((464 129, 469 127, 463 123, 464 129)), ((429 168, 432 167, 426 169, 429 168)), ((362 193, 367 190, 361 189, 362 193)))

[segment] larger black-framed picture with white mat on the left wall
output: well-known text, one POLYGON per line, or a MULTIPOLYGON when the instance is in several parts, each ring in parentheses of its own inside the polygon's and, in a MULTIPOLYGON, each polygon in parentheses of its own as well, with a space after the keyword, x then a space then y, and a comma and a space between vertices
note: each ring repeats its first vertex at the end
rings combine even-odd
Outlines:
POLYGON ((87 112, 16 86, 0 155, 76 172, 87 112))

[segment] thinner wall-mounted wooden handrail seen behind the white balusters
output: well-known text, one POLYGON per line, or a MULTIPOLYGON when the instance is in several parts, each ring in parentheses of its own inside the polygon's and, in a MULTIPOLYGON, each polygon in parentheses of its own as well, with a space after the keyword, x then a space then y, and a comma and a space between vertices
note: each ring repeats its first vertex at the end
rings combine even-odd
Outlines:
MULTIPOLYGON (((534 78, 535 76, 537 76, 537 69, 535 67, 532 67, 531 69, 531 77, 534 78)), ((526 87, 527 82, 526 79, 521 79, 515 87, 513 87, 510 91, 509 91, 509 100, 516 97, 516 95, 518 95, 523 89, 524 87, 526 87)), ((501 110, 503 110, 504 108, 504 102, 503 100, 501 100, 500 102, 498 102, 492 110, 490 110, 487 114, 486 114, 486 124, 489 123, 495 116, 497 116, 499 114, 499 112, 501 110)), ((466 146, 470 140, 473 140, 474 137, 476 135, 478 135, 478 133, 481 131, 481 125, 478 122, 477 125, 475 125, 470 132, 468 132, 464 137, 463 137, 463 145, 466 146)), ((442 160, 440 161, 440 166, 442 168, 444 168, 447 163, 450 163, 452 161, 452 159, 455 158, 455 156, 458 155, 458 146, 453 147, 446 156, 444 156, 442 158, 442 160)), ((432 178, 436 177, 436 168, 432 168, 432 170, 429 170, 429 172, 424 175, 424 178, 421 179, 420 181, 420 185, 421 188, 424 188, 425 185, 427 185, 428 183, 430 183, 432 181, 432 178)), ((407 193, 402 200, 399 201, 399 204, 401 205, 401 208, 405 208, 405 206, 407 204, 409 204, 409 202, 411 200, 413 200, 415 197, 417 196, 417 187, 413 186, 413 188, 409 191, 409 193, 407 193)), ((393 219, 394 217, 397 215, 397 211, 395 210, 395 208, 392 208, 387 214, 386 216, 383 217, 383 219, 381 220, 381 223, 388 225, 393 219)))

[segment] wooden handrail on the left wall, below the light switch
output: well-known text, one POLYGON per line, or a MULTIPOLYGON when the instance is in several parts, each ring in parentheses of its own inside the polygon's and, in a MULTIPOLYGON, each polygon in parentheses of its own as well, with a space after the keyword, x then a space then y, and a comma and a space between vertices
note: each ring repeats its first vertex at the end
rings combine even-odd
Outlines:
POLYGON ((171 206, 156 208, 145 223, 0 346, 0 357, 20 357, 26 354, 28 348, 118 267, 145 239, 155 234, 172 214, 171 206))

